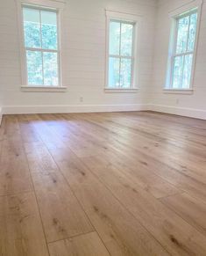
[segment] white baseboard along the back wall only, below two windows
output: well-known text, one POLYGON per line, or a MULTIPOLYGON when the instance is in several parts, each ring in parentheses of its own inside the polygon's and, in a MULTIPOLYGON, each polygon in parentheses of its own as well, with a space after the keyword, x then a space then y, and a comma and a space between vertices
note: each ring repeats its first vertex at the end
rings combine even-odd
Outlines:
POLYGON ((15 113, 95 113, 148 110, 147 105, 67 105, 67 106, 4 106, 4 114, 15 113))

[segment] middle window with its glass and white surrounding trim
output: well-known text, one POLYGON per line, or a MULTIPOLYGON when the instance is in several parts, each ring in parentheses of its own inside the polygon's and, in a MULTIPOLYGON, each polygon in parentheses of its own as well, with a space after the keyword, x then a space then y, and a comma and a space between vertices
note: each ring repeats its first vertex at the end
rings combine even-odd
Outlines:
POLYGON ((137 90, 137 27, 140 17, 116 11, 107 15, 107 73, 109 91, 137 90))

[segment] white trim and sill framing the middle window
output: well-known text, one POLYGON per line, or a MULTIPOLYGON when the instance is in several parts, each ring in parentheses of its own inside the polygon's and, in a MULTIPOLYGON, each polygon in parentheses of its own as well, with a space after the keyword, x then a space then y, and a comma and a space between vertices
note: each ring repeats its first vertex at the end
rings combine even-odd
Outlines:
MULTIPOLYGON (((141 22, 140 15, 122 13, 118 11, 106 10, 106 67, 105 67, 105 92, 136 92, 139 87, 139 67, 138 67, 138 56, 139 56, 139 26, 141 22), (131 87, 130 88, 112 88, 109 87, 109 60, 110 60, 110 21, 118 20, 122 23, 130 23, 134 25, 133 30, 133 41, 132 41, 132 56, 128 57, 131 59, 131 87)), ((116 56, 116 55, 114 55, 116 56)), ((121 57, 117 55, 117 57, 121 57)))

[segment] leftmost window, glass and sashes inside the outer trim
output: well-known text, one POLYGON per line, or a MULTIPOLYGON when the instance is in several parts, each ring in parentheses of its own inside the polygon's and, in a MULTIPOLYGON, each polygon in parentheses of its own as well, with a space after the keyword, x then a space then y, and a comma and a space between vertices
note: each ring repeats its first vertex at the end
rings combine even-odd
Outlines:
POLYGON ((59 86, 57 11, 23 6, 27 84, 59 86))

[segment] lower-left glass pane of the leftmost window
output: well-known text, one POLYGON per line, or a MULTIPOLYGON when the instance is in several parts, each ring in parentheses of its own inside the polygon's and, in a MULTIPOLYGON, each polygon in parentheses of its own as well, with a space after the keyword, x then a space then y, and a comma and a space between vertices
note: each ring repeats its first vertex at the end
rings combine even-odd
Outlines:
POLYGON ((42 85, 42 55, 41 52, 26 51, 27 76, 29 85, 42 85))

